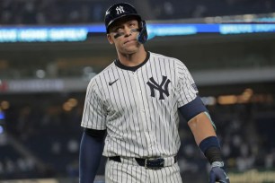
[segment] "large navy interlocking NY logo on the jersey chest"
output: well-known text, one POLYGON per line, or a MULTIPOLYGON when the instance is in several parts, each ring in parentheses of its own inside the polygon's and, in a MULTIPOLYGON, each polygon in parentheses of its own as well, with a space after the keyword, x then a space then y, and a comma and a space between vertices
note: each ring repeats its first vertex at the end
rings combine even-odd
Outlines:
POLYGON ((159 100, 164 100, 164 94, 168 97, 168 85, 171 83, 167 76, 163 75, 162 83, 158 84, 155 82, 155 79, 151 77, 147 82, 148 86, 150 87, 151 97, 155 97, 155 90, 159 92, 159 100))

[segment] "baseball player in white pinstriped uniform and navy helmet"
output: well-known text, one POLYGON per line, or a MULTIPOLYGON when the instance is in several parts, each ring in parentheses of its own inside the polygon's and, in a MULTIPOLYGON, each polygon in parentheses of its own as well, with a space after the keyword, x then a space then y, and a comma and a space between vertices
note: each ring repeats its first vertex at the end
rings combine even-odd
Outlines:
POLYGON ((209 181, 228 183, 214 123, 186 66, 145 49, 146 22, 131 4, 112 5, 105 25, 118 58, 87 87, 80 182, 93 182, 102 153, 107 183, 182 182, 179 111, 211 164, 209 181))

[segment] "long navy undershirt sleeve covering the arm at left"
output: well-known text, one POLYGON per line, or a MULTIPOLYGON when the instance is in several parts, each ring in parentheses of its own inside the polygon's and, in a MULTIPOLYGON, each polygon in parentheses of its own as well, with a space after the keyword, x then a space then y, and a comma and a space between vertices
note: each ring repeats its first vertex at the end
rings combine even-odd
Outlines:
POLYGON ((95 178, 102 158, 105 132, 106 130, 84 130, 79 154, 80 183, 91 183, 95 178))

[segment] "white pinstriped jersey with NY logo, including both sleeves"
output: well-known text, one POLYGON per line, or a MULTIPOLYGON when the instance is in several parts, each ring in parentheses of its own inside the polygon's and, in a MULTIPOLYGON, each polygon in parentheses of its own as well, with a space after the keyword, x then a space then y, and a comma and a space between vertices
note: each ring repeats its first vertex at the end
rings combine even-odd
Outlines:
POLYGON ((178 108, 198 91, 182 61, 147 52, 145 62, 134 72, 113 62, 88 84, 81 126, 107 129, 104 156, 178 153, 178 108))

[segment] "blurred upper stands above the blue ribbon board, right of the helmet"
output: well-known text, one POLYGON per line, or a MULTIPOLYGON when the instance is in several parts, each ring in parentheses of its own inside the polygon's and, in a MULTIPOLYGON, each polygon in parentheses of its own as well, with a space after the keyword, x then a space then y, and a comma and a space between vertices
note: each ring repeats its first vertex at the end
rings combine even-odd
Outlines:
POLYGON ((150 0, 155 18, 161 20, 239 14, 274 13, 272 0, 150 0))

